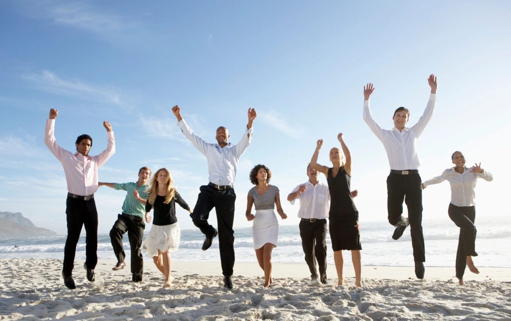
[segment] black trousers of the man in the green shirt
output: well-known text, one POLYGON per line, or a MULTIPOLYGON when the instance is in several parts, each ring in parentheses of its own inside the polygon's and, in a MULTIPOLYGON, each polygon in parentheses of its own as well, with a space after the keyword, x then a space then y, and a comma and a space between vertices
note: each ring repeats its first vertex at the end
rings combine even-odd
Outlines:
POLYGON ((126 259, 126 254, 123 248, 123 234, 128 232, 129 245, 131 247, 131 273, 137 274, 142 277, 144 273, 144 258, 142 251, 142 238, 144 237, 144 228, 146 224, 144 219, 136 217, 137 221, 131 220, 129 217, 119 214, 117 221, 113 223, 112 230, 110 230, 110 240, 112 241, 113 251, 117 261, 123 262, 126 259))

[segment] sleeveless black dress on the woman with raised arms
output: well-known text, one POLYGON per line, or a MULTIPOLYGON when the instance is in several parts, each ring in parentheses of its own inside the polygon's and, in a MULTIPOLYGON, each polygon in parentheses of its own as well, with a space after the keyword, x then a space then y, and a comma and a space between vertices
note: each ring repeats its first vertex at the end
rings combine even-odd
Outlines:
POLYGON ((329 230, 333 250, 362 249, 358 211, 350 191, 351 176, 341 167, 337 176, 333 177, 332 168, 329 168, 327 182, 330 190, 329 230))

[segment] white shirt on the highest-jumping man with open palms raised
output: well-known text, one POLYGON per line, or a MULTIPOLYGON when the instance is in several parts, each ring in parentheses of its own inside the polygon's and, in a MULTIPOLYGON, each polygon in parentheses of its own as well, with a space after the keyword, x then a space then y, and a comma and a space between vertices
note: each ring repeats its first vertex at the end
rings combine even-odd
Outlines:
POLYGON ((399 131, 396 127, 392 130, 381 128, 371 115, 369 101, 364 101, 364 121, 383 143, 390 169, 400 171, 419 169, 421 163, 419 163, 419 157, 417 157, 417 140, 433 116, 435 102, 436 95, 431 94, 424 114, 419 121, 412 127, 405 127, 402 131, 399 131))

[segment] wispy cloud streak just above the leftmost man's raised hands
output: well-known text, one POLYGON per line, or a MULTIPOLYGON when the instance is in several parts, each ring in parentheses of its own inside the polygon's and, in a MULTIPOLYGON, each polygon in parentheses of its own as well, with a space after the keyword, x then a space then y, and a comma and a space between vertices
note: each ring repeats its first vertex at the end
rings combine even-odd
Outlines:
POLYGON ((52 94, 66 95, 122 105, 121 94, 86 84, 77 79, 62 79, 54 73, 44 70, 40 74, 24 74, 22 78, 33 82, 40 90, 52 94))

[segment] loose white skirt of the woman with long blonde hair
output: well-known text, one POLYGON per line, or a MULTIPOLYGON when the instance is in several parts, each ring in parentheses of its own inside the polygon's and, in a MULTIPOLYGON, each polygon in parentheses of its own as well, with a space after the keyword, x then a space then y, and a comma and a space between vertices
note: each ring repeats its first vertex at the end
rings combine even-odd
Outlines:
POLYGON ((178 222, 170 225, 153 224, 142 246, 142 252, 151 257, 157 257, 158 250, 162 253, 166 251, 175 252, 179 248, 180 238, 181 229, 178 222))

